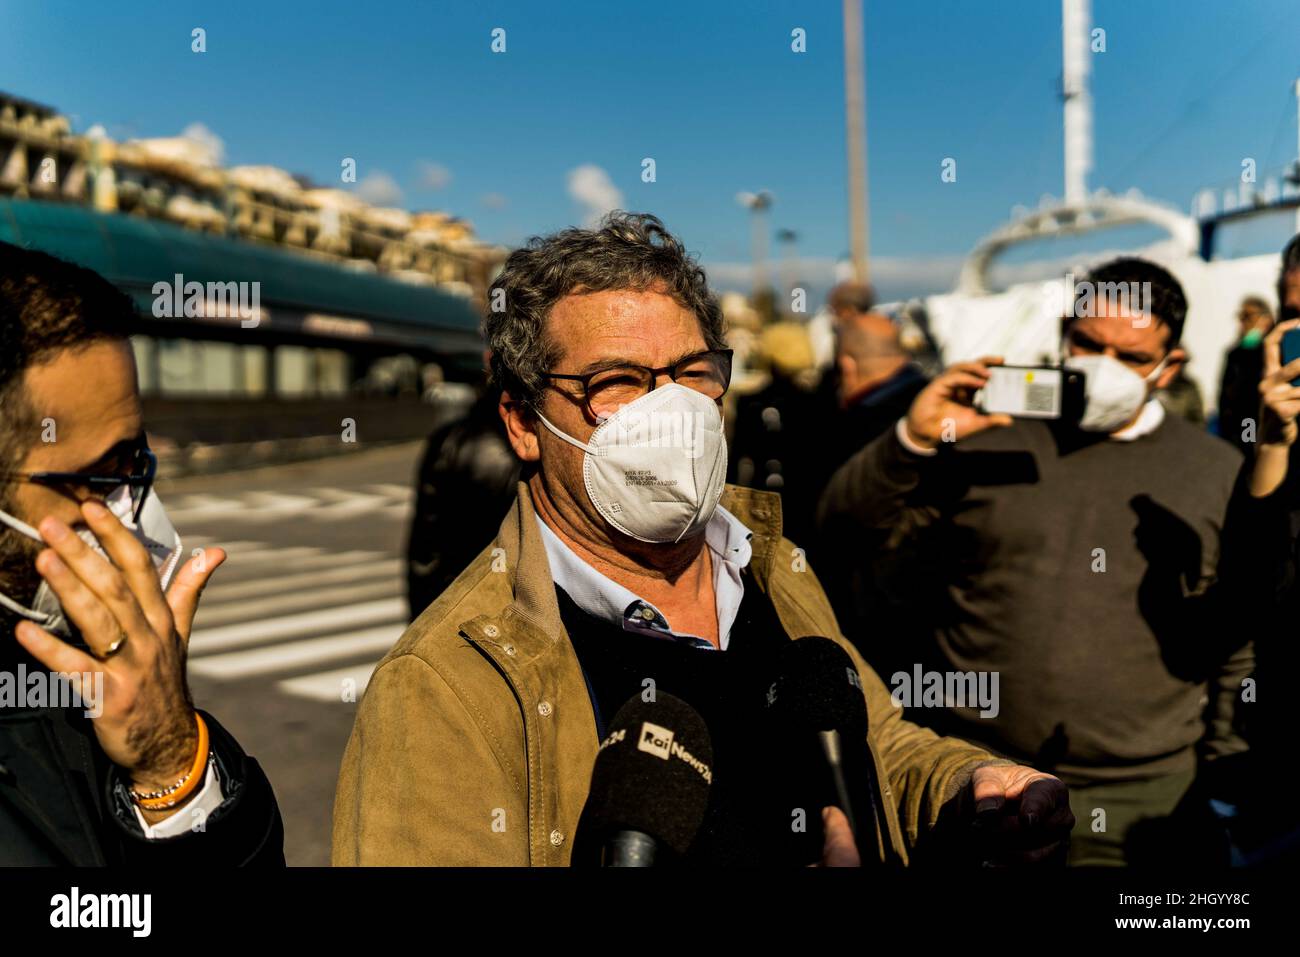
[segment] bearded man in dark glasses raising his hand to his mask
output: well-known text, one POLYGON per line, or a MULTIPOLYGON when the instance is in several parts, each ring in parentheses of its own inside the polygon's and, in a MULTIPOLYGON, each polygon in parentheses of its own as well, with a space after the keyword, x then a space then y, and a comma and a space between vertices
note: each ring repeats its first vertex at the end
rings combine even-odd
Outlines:
POLYGON ((186 560, 152 493, 131 320, 0 243, 0 866, 283 863, 270 784, 190 698, 225 553, 186 560))

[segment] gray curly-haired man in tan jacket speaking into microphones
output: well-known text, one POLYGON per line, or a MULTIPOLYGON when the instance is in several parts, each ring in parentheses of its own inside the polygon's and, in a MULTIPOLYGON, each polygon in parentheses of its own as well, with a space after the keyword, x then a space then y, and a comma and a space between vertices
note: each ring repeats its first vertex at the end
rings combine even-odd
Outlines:
POLYGON ((1053 856, 1072 824, 1061 781, 905 722, 781 537, 780 498, 724 488, 722 312, 658 218, 534 238, 494 283, 484 333, 524 463, 517 499, 376 668, 334 863, 585 862, 575 839, 608 722, 659 693, 688 701, 712 741, 686 863, 906 862, 976 811, 985 859, 1053 856), (870 732, 846 761, 883 800, 855 832, 820 806, 833 801, 790 798, 806 781, 774 774, 754 731, 783 649, 811 636, 849 655, 866 697, 870 732))

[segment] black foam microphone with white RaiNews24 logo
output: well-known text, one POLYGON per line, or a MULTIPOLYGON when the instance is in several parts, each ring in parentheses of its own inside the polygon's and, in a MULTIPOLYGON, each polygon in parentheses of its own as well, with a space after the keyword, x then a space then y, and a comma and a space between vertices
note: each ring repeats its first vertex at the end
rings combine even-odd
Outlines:
POLYGON ((649 702, 630 697, 595 755, 573 859, 602 867, 680 859, 705 822, 712 763, 708 729, 696 709, 664 692, 649 702))

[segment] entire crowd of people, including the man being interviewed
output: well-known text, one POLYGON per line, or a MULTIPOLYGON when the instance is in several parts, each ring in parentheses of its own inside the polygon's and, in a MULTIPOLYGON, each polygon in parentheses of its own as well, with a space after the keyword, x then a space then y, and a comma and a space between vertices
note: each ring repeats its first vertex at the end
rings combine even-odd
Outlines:
MULTIPOLYGON (((776 324, 737 397, 719 300, 655 217, 516 250, 490 382, 420 464, 412 622, 358 706, 334 863, 598 859, 593 766, 656 696, 711 740, 682 863, 1294 859, 1300 237, 1277 320, 1242 303, 1216 432, 1161 400, 1176 278, 1123 257, 1084 282, 1149 295, 1062 317, 1079 415, 1013 416, 979 400, 1002 356, 927 371, 864 285, 829 296, 829 368, 776 324), (801 792, 786 728, 755 733, 806 638, 861 692, 855 819, 801 792)), ((0 863, 278 862, 270 784, 185 681, 224 555, 182 563, 151 497, 130 309, 0 250, 0 668, 105 675, 98 715, 0 707, 0 863)))

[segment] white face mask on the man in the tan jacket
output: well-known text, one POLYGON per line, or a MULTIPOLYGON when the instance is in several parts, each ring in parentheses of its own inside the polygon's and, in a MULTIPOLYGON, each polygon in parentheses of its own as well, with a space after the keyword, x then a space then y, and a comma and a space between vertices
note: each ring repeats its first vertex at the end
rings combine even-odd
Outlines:
POLYGON ((718 403, 671 382, 629 402, 588 442, 538 412, 547 429, 581 449, 595 510, 642 542, 677 542, 705 528, 727 481, 727 438, 718 403))

